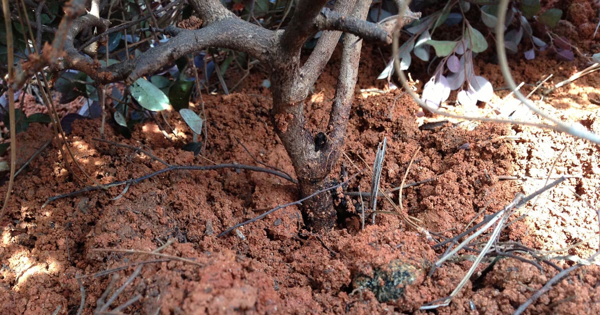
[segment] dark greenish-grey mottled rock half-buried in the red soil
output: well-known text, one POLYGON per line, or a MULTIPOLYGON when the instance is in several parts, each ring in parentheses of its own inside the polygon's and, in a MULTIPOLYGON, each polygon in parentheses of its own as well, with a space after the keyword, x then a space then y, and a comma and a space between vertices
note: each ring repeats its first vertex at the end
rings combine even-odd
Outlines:
POLYGON ((415 282, 421 271, 402 260, 392 260, 384 268, 373 269, 373 277, 358 275, 352 281, 355 289, 369 289, 377 301, 385 303, 402 298, 404 288, 415 282))

